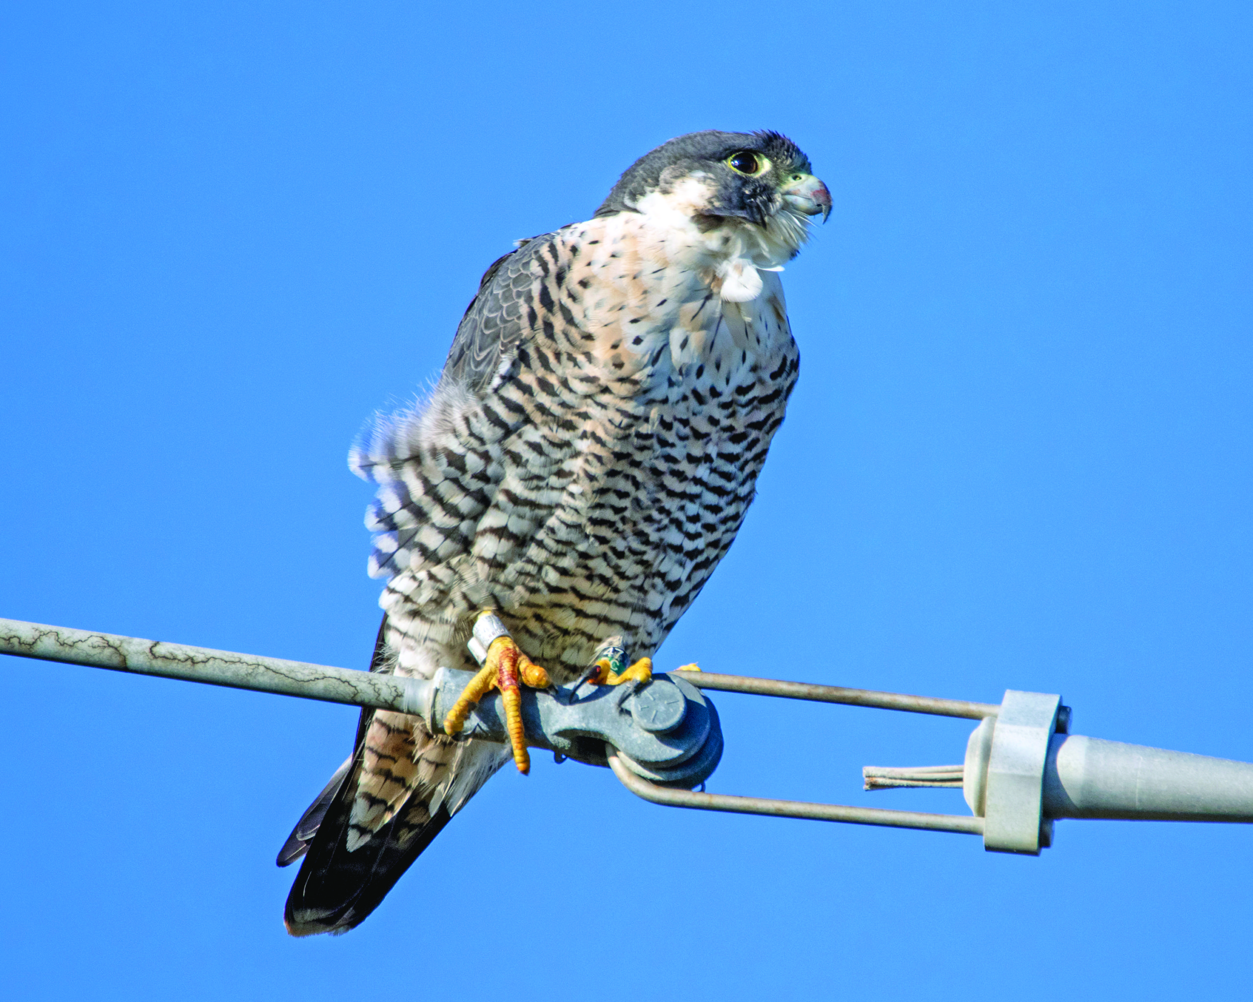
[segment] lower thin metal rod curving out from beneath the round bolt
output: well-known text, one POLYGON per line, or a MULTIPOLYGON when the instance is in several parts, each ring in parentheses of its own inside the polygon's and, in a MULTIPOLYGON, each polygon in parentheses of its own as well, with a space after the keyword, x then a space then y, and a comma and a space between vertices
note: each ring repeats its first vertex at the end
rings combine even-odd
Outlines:
MULTIPOLYGON (((687 673, 684 673, 687 674, 687 673)), ((846 824, 877 824, 886 828, 921 828, 927 832, 956 832, 965 835, 984 834, 984 819, 961 814, 923 814, 916 810, 885 810, 873 807, 843 804, 811 804, 804 800, 767 800, 761 797, 730 797, 719 793, 695 793, 658 787, 635 775, 609 754, 609 767, 621 784, 654 804, 685 807, 695 810, 727 810, 736 814, 766 814, 772 818, 804 818, 814 822, 846 824)))

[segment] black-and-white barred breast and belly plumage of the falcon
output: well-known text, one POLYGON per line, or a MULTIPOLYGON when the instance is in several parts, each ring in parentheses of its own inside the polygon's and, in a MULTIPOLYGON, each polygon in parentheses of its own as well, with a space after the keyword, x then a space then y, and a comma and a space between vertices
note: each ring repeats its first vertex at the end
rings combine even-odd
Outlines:
POLYGON ((375 572, 402 670, 470 668, 500 611, 559 680, 606 638, 650 656, 743 521, 798 356, 778 278, 729 303, 649 248, 647 217, 531 240, 501 263, 429 406, 356 457, 385 485, 375 572), (486 309, 484 309, 486 312, 486 309))

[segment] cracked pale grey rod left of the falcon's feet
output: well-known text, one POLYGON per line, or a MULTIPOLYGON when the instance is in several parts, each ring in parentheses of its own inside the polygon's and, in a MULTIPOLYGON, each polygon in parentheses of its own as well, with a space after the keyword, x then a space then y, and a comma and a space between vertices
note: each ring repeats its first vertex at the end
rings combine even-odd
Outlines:
POLYGON ((417 713, 413 679, 0 619, 0 654, 417 713))

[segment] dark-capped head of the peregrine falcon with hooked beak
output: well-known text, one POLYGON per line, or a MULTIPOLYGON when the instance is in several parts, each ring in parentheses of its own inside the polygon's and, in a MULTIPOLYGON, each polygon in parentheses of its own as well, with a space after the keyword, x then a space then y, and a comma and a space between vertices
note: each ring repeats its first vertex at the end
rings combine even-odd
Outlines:
POLYGON ((806 157, 774 132, 689 133, 640 157, 609 193, 596 215, 647 212, 657 198, 680 204, 702 232, 732 225, 762 230, 793 257, 809 217, 831 214, 831 193, 806 157), (653 195, 654 198, 649 198, 653 195))

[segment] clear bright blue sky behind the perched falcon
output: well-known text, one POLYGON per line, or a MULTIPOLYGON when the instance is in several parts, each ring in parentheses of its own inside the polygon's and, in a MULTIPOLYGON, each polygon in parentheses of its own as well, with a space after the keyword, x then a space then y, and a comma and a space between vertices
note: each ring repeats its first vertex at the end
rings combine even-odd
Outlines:
MULTIPOLYGON (((1194 3, 114 3, 0 24, 0 615, 365 668, 347 447, 482 269, 703 128, 836 210, 759 498, 659 664, 1253 760, 1253 13, 1194 3)), ((668 810, 539 758, 361 928, 273 857, 355 711, 4 660, 0 979, 69 998, 1239 997, 1253 832, 668 810)), ((710 789, 933 810, 969 725, 723 695, 710 789)), ((11 994, 10 994, 11 993, 11 994)))

